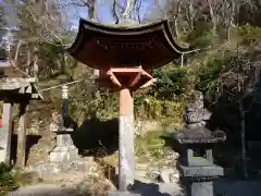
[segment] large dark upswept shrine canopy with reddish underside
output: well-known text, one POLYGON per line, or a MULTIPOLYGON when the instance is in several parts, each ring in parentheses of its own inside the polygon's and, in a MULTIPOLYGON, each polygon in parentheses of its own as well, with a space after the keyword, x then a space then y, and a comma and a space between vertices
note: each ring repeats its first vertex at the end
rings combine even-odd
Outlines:
POLYGON ((98 70, 142 65, 150 70, 167 64, 187 49, 172 37, 167 21, 147 25, 102 25, 80 19, 75 42, 67 51, 98 70))

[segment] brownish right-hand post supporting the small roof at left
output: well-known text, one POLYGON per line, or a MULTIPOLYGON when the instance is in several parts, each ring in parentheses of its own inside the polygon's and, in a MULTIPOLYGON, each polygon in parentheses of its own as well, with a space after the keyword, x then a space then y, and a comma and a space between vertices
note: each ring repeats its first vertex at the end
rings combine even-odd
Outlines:
POLYGON ((20 128, 17 132, 17 155, 16 155, 16 166, 25 167, 25 155, 26 155, 26 110, 28 108, 28 102, 20 103, 20 128))

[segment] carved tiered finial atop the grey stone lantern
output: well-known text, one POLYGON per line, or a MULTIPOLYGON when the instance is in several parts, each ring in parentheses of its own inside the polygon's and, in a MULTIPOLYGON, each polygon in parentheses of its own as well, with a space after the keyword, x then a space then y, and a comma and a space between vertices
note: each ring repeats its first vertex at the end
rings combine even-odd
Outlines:
POLYGON ((187 106, 184 114, 186 128, 204 127, 211 113, 203 108, 203 95, 200 91, 194 94, 194 101, 187 106))

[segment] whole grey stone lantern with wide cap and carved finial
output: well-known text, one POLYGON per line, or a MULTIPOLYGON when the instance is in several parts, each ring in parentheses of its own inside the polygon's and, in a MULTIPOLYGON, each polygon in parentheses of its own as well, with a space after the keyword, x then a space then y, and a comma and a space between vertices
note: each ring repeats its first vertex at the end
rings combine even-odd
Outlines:
POLYGON ((224 175, 223 168, 213 162, 213 144, 226 139, 222 131, 210 131, 211 113, 203 108, 203 96, 196 91, 194 101, 184 115, 185 130, 174 134, 182 145, 178 160, 182 182, 187 185, 187 195, 213 196, 213 180, 224 175))

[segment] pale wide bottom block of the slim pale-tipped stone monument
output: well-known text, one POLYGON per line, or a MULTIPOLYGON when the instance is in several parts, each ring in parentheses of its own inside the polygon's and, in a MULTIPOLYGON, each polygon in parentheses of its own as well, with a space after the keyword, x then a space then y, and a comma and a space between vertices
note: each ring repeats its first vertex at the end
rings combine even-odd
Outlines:
POLYGON ((50 162, 51 163, 73 162, 75 159, 78 159, 78 149, 74 145, 57 146, 50 152, 50 162))

